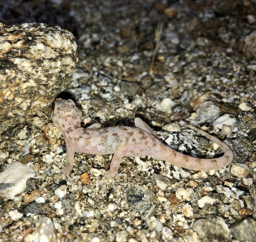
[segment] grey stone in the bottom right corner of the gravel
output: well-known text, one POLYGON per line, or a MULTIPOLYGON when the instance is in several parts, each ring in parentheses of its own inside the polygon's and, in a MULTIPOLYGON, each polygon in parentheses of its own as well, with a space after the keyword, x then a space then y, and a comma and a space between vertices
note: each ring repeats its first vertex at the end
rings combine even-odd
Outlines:
POLYGON ((234 237, 238 241, 255 241, 256 222, 252 217, 244 217, 230 226, 234 237))

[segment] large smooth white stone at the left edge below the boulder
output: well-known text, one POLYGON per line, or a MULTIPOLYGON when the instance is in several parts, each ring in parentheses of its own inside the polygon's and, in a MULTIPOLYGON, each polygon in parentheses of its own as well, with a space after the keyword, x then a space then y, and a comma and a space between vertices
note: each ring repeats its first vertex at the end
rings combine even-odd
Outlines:
POLYGON ((29 178, 35 177, 35 172, 29 166, 15 161, 6 166, 0 173, 0 194, 2 197, 14 199, 26 188, 26 182, 29 178))

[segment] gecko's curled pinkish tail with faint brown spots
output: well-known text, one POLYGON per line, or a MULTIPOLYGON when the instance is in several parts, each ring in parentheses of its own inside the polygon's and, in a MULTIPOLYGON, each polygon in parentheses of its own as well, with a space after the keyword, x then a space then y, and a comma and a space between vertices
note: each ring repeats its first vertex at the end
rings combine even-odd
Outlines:
POLYGON ((165 160, 166 162, 171 163, 173 165, 190 169, 190 170, 195 170, 195 171, 217 170, 227 166, 233 160, 232 150, 228 147, 228 145, 220 141, 218 138, 213 137, 212 135, 204 132, 201 129, 197 129, 192 125, 188 125, 188 124, 182 124, 182 125, 195 130, 199 134, 210 139, 212 142, 215 142, 216 144, 218 144, 220 148, 223 150, 224 154, 218 158, 201 159, 201 158, 195 158, 192 156, 184 155, 180 152, 173 150, 170 147, 162 145, 161 153, 157 154, 158 158, 156 159, 165 160))

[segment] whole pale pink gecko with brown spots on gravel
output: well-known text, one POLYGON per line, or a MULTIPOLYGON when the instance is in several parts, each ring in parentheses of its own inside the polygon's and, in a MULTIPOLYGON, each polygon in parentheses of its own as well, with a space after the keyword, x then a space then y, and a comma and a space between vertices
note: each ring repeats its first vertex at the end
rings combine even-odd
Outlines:
POLYGON ((195 158, 182 154, 163 144, 158 139, 156 132, 140 118, 135 118, 135 128, 127 126, 102 128, 100 123, 94 123, 84 129, 81 127, 82 112, 71 99, 56 98, 52 104, 51 117, 54 125, 63 135, 67 146, 66 166, 55 181, 56 183, 59 183, 64 175, 70 179, 68 174, 74 166, 75 152, 114 154, 110 169, 104 174, 105 178, 113 178, 118 175, 122 157, 150 156, 156 160, 164 160, 175 166, 194 171, 220 169, 227 166, 233 159, 233 152, 225 143, 189 124, 182 125, 218 144, 224 154, 212 159, 195 158))

